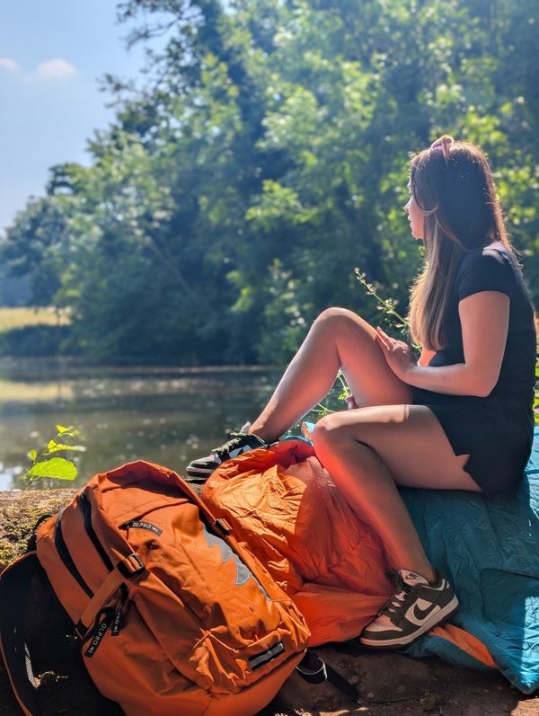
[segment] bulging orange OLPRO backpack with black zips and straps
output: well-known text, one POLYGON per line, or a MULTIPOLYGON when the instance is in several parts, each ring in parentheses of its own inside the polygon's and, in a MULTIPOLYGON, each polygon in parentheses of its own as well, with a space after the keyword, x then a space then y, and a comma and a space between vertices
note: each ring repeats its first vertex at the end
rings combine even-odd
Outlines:
MULTIPOLYGON (((304 657, 297 607, 167 468, 96 475, 39 526, 36 548, 93 683, 128 716, 252 716, 304 657)), ((10 588, 32 557, 0 577, 4 662, 26 714, 35 695, 10 588)))

